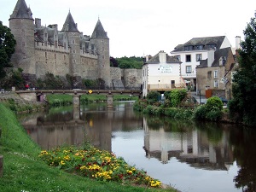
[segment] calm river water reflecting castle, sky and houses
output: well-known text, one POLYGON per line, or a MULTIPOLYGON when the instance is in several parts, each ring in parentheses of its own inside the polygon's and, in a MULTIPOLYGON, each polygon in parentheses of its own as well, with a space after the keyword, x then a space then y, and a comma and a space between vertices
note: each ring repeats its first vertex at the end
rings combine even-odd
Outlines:
POLYGON ((91 103, 19 119, 42 149, 90 141, 183 192, 256 191, 256 131, 145 116, 132 105, 91 103))

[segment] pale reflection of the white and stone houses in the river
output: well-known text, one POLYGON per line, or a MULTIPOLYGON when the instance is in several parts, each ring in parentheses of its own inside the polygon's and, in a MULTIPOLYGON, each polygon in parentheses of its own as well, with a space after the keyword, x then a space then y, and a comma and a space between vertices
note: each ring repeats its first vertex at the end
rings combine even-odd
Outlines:
POLYGON ((168 163, 172 157, 185 161, 190 166, 207 170, 228 170, 233 161, 228 136, 224 132, 218 143, 210 143, 206 132, 196 129, 166 132, 164 127, 150 130, 147 120, 143 119, 145 131, 144 149, 148 158, 154 157, 168 163))

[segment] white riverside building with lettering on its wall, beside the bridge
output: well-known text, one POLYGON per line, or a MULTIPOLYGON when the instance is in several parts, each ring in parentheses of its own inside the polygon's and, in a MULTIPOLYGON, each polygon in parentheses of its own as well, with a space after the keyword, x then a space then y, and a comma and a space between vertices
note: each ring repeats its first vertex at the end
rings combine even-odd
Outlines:
POLYGON ((161 50, 143 65, 143 96, 151 90, 163 93, 166 90, 184 87, 181 78, 181 61, 161 50))

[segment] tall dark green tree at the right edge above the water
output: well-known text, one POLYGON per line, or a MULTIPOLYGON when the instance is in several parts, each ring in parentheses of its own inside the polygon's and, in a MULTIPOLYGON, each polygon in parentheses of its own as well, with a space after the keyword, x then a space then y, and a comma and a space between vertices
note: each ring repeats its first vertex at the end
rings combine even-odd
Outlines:
POLYGON ((246 125, 256 125, 256 19, 250 20, 241 42, 239 67, 232 85, 233 99, 229 102, 230 116, 246 125))

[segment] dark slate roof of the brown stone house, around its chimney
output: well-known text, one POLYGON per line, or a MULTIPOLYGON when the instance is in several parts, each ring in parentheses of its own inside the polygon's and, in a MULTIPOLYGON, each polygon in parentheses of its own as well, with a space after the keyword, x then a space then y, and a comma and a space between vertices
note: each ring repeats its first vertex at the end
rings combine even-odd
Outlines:
MULTIPOLYGON (((232 53, 232 50, 231 50, 230 47, 216 50, 214 52, 214 61, 212 62, 212 67, 218 67, 220 57, 228 58, 229 53, 232 53)), ((224 63, 224 66, 225 66, 225 64, 226 63, 224 63)), ((206 60, 201 60, 200 65, 198 65, 196 68, 203 68, 203 67, 208 67, 207 66, 207 59, 206 60)))

